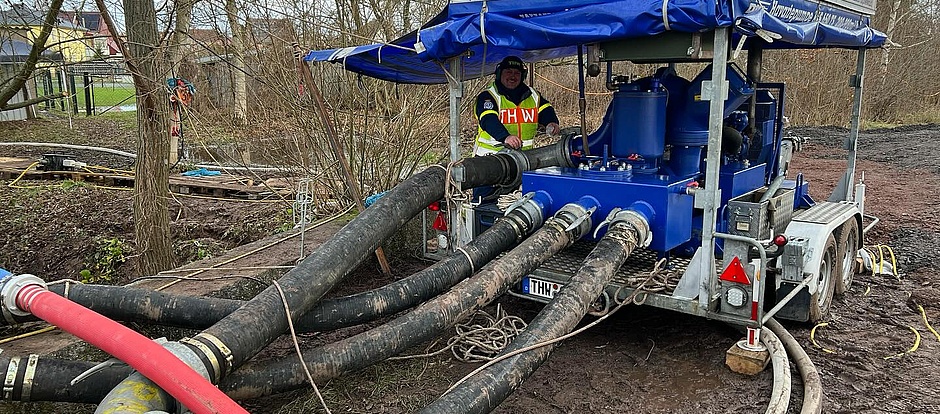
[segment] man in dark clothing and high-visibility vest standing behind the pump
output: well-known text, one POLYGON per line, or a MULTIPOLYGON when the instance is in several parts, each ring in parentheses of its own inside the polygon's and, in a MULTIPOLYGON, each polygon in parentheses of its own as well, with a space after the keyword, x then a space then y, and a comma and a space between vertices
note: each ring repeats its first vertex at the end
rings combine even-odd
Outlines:
POLYGON ((492 154, 503 147, 531 149, 540 126, 552 136, 560 132, 555 109, 525 84, 525 76, 525 63, 517 56, 496 65, 496 79, 477 96, 474 114, 480 124, 473 155, 492 154))

